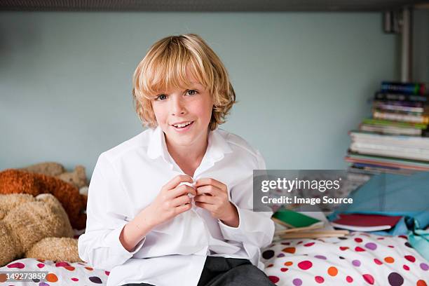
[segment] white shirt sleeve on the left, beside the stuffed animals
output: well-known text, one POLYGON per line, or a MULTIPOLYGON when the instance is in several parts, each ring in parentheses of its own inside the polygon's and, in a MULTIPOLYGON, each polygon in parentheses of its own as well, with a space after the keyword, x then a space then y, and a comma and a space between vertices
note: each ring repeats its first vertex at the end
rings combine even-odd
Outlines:
POLYGON ((79 257, 98 269, 110 270, 125 263, 144 244, 144 237, 132 252, 125 250, 119 236, 130 206, 111 162, 101 154, 90 180, 86 207, 86 231, 79 237, 79 257))

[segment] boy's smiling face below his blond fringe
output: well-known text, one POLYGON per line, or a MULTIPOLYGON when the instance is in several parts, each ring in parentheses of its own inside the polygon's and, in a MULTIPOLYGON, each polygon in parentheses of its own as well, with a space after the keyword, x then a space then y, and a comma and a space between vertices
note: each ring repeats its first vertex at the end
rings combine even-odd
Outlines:
POLYGON ((205 144, 207 139, 213 100, 189 70, 186 76, 191 86, 186 89, 165 90, 151 100, 151 104, 168 144, 181 147, 199 146, 205 144))

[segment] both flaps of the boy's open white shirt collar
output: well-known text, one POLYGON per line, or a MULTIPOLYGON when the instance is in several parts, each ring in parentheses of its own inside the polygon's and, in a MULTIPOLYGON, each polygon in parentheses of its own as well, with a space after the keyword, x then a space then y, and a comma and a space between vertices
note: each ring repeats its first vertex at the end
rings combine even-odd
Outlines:
MULTIPOLYGON (((226 142, 224 137, 219 133, 218 129, 209 132, 207 151, 204 155, 204 158, 207 159, 207 161, 214 163, 224 158, 225 154, 231 152, 231 147, 229 147, 228 142, 226 142)), ((168 154, 167 144, 165 144, 164 132, 159 126, 151 132, 147 155, 151 159, 162 156, 165 161, 168 161, 168 158, 170 157, 168 154)))

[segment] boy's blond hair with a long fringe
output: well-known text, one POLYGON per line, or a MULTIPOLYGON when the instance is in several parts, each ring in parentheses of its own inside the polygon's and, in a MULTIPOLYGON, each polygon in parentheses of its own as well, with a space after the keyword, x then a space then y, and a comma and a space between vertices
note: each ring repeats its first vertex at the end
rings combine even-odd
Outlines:
POLYGON ((228 72, 219 57, 197 34, 167 36, 149 49, 137 65, 132 78, 135 111, 144 126, 156 128, 151 99, 160 90, 186 88, 186 68, 209 91, 213 100, 209 128, 225 123, 226 115, 236 102, 236 93, 228 72))

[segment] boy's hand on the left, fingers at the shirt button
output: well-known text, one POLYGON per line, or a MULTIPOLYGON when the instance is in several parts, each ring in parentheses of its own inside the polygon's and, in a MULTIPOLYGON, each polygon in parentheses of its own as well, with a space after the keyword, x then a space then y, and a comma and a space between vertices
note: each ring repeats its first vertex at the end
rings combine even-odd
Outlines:
POLYGON ((193 179, 188 175, 177 175, 172 178, 161 188, 158 196, 149 205, 151 221, 154 222, 155 226, 191 209, 191 198, 189 198, 188 193, 195 196, 196 190, 186 184, 179 185, 184 182, 192 184, 193 179))

